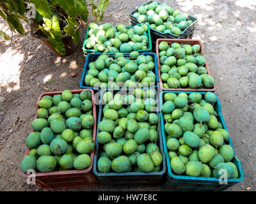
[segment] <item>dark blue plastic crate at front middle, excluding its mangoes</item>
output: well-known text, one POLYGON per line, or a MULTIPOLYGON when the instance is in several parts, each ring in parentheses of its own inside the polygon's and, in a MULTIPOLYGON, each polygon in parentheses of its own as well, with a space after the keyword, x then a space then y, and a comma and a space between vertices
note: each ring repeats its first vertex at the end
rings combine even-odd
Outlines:
MULTIPOLYGON (((100 101, 101 101, 102 96, 106 91, 100 91, 100 92, 101 92, 100 93, 100 101)), ((114 93, 116 93, 116 91, 114 91, 114 93)), ((156 94, 156 101, 157 101, 157 94, 156 94)), ((100 103, 98 125, 99 125, 99 122, 102 120, 102 115, 103 115, 102 108, 103 108, 102 103, 100 103)), ((161 131, 160 122, 159 122, 158 132, 159 132, 159 140, 157 141, 157 143, 158 143, 159 150, 163 156, 163 161, 161 164, 162 168, 161 168, 161 171, 148 172, 148 173, 145 173, 145 172, 100 173, 97 170, 97 161, 100 156, 100 150, 102 148, 102 145, 99 145, 96 138, 95 154, 93 157, 93 173, 97 178, 100 186, 104 186, 107 188, 159 186, 166 173, 166 159, 164 157, 163 136, 161 135, 162 131, 161 131)), ((99 133, 99 129, 97 128, 97 134, 98 133, 99 133)))

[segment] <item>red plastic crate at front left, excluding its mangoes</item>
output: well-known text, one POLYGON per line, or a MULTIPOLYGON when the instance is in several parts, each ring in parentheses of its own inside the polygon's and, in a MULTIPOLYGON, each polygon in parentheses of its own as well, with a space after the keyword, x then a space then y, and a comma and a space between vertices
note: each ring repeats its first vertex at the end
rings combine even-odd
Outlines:
MULTIPOLYGON (((92 93, 92 107, 93 107, 93 141, 96 142, 96 124, 97 124, 97 113, 96 113, 96 106, 94 101, 94 92, 92 89, 77 89, 77 90, 70 90, 72 94, 80 94, 82 91, 88 90, 92 93)), ((38 102, 43 96, 54 96, 56 94, 61 94, 62 91, 56 92, 44 92, 42 93, 37 102, 36 102, 36 111, 38 110, 38 102)), ((37 114, 35 115, 35 119, 37 118, 37 114)), ((27 150, 27 156, 29 154, 29 150, 27 150)), ((97 186, 98 182, 95 179, 95 176, 92 172, 93 167, 93 156, 95 150, 93 150, 90 154, 91 157, 91 164, 85 170, 70 170, 70 171, 51 171, 46 173, 36 173, 35 174, 35 181, 36 185, 42 187, 43 189, 53 190, 53 189, 67 189, 67 188, 74 188, 74 187, 85 187, 85 186, 97 186)), ((22 177, 29 177, 29 174, 24 173, 21 171, 22 177)))

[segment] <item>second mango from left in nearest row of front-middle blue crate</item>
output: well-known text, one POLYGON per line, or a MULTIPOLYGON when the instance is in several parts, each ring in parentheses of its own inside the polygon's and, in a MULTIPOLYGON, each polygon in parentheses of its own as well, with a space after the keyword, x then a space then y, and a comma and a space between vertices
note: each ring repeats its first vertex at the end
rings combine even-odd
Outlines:
POLYGON ((131 168, 131 161, 127 156, 117 157, 112 161, 111 168, 118 173, 128 171, 131 168))

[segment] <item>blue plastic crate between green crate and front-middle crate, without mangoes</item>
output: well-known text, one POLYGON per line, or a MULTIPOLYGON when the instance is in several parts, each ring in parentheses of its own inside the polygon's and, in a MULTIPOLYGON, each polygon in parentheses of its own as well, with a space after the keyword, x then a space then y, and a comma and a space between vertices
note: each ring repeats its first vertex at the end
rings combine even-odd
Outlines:
MULTIPOLYGON (((95 61, 96 59, 98 59, 99 55, 103 55, 104 53, 90 53, 86 56, 85 62, 84 62, 84 69, 83 69, 83 73, 82 73, 82 77, 81 77, 81 81, 80 81, 80 87, 82 89, 93 89, 95 91, 100 91, 101 89, 97 89, 95 87, 88 87, 86 86, 85 82, 84 82, 84 78, 86 77, 88 70, 89 70, 89 63, 95 61)), ((154 73, 156 75, 156 85, 154 85, 154 87, 150 87, 150 88, 157 88, 157 82, 159 82, 159 77, 158 77, 158 71, 157 71, 157 57, 156 54, 153 52, 141 52, 140 55, 150 55, 151 57, 153 57, 154 59, 154 64, 155 64, 155 69, 154 69, 154 73)), ((114 54, 109 54, 109 57, 114 57, 114 54)), ((129 54, 124 54, 124 57, 129 57, 129 54)), ((147 87, 143 87, 143 89, 147 89, 147 87)), ((104 89, 102 89, 104 90, 104 89)), ((120 89, 114 89, 114 90, 120 90, 120 89)), ((128 89, 122 89, 122 90, 128 90, 128 89)))

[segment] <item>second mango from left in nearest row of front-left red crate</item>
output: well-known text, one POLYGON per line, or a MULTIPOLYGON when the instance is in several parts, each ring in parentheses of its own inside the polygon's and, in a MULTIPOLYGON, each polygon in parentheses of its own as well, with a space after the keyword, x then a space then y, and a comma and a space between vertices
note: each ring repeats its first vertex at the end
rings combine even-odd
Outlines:
POLYGON ((36 167, 40 172, 52 171, 56 166, 56 159, 53 156, 40 156, 36 161, 36 167))

